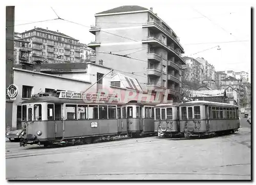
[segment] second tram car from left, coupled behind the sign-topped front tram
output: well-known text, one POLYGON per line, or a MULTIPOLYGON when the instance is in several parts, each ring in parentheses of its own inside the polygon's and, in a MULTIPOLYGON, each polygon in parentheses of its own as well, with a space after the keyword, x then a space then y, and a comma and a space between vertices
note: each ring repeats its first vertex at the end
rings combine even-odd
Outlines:
POLYGON ((154 106, 156 103, 130 101, 126 103, 129 136, 154 135, 154 106))

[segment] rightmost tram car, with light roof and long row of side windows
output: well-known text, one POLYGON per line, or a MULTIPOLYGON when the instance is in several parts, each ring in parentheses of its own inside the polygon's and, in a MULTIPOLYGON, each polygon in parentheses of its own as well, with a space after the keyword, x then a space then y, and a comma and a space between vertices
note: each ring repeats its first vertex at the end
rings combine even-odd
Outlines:
POLYGON ((185 137, 233 133, 240 128, 238 106, 191 101, 179 105, 180 132, 185 137))

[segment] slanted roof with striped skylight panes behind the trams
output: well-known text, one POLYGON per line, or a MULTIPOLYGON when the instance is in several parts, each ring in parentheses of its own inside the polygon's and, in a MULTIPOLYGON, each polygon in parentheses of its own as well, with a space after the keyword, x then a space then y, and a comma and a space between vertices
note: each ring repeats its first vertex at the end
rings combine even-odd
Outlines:
MULTIPOLYGON (((121 73, 117 73, 115 74, 112 79, 118 76, 118 78, 120 79, 120 81, 122 82, 123 86, 125 88, 129 88, 129 89, 134 89, 134 90, 139 90, 139 91, 143 91, 142 87, 140 86, 138 80, 136 78, 131 78, 131 77, 127 77, 124 76, 121 73)), ((116 81, 116 80, 115 80, 116 81)))

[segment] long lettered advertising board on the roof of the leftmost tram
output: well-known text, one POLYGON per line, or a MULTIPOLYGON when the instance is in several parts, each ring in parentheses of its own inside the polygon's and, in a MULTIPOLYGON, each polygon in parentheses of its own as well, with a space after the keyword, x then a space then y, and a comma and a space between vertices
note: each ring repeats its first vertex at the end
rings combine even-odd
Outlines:
POLYGON ((79 99, 79 100, 98 100, 98 101, 118 101, 115 95, 102 95, 93 93, 83 93, 83 92, 68 92, 61 91, 59 98, 67 99, 79 99))

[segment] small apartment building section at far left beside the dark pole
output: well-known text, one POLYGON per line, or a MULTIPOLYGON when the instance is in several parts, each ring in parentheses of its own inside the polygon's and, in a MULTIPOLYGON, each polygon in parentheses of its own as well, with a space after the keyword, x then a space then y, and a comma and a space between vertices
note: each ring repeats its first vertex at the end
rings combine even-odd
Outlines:
POLYGON ((13 62, 17 63, 31 63, 31 45, 29 41, 14 39, 14 59, 13 62))

